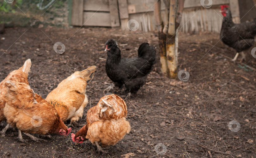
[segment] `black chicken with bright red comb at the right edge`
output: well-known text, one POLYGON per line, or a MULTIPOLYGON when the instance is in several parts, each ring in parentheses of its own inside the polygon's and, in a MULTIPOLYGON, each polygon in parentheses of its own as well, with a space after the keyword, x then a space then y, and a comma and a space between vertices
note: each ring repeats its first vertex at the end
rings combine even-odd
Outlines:
POLYGON ((256 19, 251 22, 235 24, 232 21, 232 15, 228 7, 228 5, 221 5, 221 13, 224 17, 220 38, 223 43, 236 50, 237 53, 232 61, 237 59, 239 52, 242 54, 242 59, 245 59, 243 50, 250 48, 254 44, 254 37, 256 35, 256 19))

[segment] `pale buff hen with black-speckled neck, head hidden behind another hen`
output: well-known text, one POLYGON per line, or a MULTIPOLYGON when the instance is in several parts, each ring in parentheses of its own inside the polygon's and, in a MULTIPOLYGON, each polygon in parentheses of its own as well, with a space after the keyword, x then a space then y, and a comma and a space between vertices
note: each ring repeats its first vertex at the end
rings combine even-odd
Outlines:
POLYGON ((72 126, 83 115, 83 109, 88 103, 86 92, 87 84, 93 79, 96 66, 83 71, 76 71, 58 84, 47 97, 46 101, 54 105, 62 121, 70 119, 72 126))

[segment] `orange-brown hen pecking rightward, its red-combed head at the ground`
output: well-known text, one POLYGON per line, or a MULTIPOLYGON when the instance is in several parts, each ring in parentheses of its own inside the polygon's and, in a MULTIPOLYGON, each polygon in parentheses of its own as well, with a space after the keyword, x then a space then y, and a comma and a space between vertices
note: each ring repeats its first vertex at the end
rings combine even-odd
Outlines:
POLYGON ((12 127, 17 127, 19 140, 24 142, 21 132, 33 140, 42 140, 28 133, 60 134, 67 136, 71 128, 68 128, 61 120, 57 110, 42 99, 26 83, 6 81, 4 116, 12 127))

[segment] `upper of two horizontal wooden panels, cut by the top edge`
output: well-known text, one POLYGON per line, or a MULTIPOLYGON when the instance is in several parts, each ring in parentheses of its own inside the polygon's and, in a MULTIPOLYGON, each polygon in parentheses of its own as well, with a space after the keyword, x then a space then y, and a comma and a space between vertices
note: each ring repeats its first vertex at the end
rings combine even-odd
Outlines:
MULTIPOLYGON (((98 11, 109 12, 109 6, 104 4, 103 2, 101 0, 83 0, 83 10, 84 11, 97 11, 98 10, 98 11)), ((110 2, 112 2, 112 1, 110 1, 110 2)))

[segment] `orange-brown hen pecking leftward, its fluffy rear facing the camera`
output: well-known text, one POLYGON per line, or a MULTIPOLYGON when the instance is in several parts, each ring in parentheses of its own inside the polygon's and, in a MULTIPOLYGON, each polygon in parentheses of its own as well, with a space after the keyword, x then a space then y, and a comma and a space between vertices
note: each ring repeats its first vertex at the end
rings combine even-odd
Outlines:
POLYGON ((71 137, 75 144, 89 139, 97 146, 97 151, 106 153, 102 147, 116 144, 125 133, 131 130, 130 123, 126 121, 127 107, 125 101, 115 94, 102 97, 98 104, 87 112, 87 124, 71 137), (102 145, 100 146, 99 143, 102 145))

